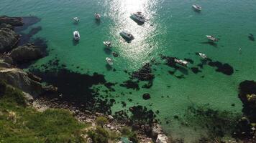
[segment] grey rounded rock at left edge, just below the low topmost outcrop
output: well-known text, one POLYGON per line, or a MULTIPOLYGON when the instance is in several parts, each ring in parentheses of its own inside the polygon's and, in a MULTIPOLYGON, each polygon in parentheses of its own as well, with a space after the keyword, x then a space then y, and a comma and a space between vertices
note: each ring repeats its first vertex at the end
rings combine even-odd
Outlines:
POLYGON ((17 45, 19 41, 19 35, 17 35, 12 29, 2 28, 0 29, 0 51, 9 51, 17 45))

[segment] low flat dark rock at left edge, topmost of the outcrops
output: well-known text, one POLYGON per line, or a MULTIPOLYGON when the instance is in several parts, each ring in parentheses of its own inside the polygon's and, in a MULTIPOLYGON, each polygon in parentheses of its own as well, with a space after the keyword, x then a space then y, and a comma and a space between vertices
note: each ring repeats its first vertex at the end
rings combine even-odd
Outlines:
POLYGON ((0 24, 9 24, 12 26, 23 26, 21 17, 9 17, 9 16, 0 16, 0 24))

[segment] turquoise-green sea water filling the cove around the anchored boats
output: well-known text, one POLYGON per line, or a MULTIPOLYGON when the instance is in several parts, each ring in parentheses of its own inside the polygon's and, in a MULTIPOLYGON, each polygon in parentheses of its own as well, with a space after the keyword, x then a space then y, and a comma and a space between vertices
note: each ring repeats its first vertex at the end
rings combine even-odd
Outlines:
MULTIPOLYGON (((1 0, 0 14, 9 16, 35 15, 42 20, 35 26, 42 26, 36 36, 47 39, 49 56, 35 62, 45 64, 57 57, 60 64, 67 65, 72 71, 81 74, 89 71, 104 74, 109 82, 122 82, 129 79, 124 70, 136 71, 151 59, 161 62, 153 65, 155 79, 150 89, 139 91, 115 86, 116 92, 132 92, 116 97, 112 111, 128 109, 140 104, 159 110, 157 119, 163 123, 165 132, 172 137, 184 137, 186 142, 204 134, 201 130, 192 132, 175 122, 177 115, 186 117, 189 106, 205 106, 219 111, 241 113, 242 103, 237 97, 239 82, 256 79, 256 42, 248 35, 256 34, 256 1, 253 0, 1 0), (192 4, 200 4, 203 10, 198 13, 191 9, 192 4), (150 21, 140 26, 129 18, 134 11, 142 11, 150 21), (101 14, 101 22, 95 21, 93 14, 101 14), (73 24, 72 18, 78 16, 81 21, 73 24), (73 44, 73 31, 81 34, 79 44, 73 44), (122 30, 130 31, 135 39, 127 43, 119 36, 122 30), (217 46, 204 44, 206 34, 217 36, 217 46), (111 40, 119 57, 113 57, 104 50, 102 41, 111 40), (239 54, 239 47, 242 54, 239 54), (201 73, 188 71, 185 79, 178 79, 168 71, 159 54, 175 56, 180 59, 193 59, 194 65, 200 58, 195 52, 202 52, 214 61, 228 63, 234 68, 234 74, 227 76, 216 72, 211 66, 205 66, 201 73), (114 58, 114 69, 106 69, 106 56, 114 58), (73 66, 75 65, 75 66, 73 66), (76 66, 83 68, 76 69, 76 66), (204 78, 202 78, 204 76, 204 78), (168 87, 170 86, 170 87, 168 87), (142 99, 142 94, 150 93, 151 99, 142 99), (127 102, 127 99, 133 102, 127 102), (235 104, 235 106, 232 106, 235 104), (166 124, 166 121, 170 121, 166 124)), ((33 26, 32 26, 33 27, 33 26)), ((192 65, 191 65, 192 66, 192 65)), ((175 75, 181 75, 177 71, 175 75)), ((102 93, 104 94, 104 93, 102 93)), ((204 129, 203 129, 204 130, 204 129)))

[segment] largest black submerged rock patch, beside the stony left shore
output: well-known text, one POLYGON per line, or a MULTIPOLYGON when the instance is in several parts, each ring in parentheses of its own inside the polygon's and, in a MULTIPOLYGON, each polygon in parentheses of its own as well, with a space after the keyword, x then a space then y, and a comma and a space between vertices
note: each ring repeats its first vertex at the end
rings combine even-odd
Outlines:
POLYGON ((106 83, 103 74, 79 74, 55 66, 55 63, 58 63, 58 60, 48 63, 49 68, 46 71, 29 69, 33 74, 42 77, 42 81, 58 87, 58 94, 48 95, 47 98, 55 98, 63 94, 60 102, 74 102, 78 107, 83 104, 92 112, 111 114, 110 107, 113 105, 113 101, 98 98, 99 93, 91 88, 93 85, 106 83))

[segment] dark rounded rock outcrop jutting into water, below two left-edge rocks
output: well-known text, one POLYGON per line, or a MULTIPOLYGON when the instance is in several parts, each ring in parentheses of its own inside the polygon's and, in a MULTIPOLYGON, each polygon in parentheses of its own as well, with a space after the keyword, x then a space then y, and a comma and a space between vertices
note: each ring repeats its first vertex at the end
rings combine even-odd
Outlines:
POLYGON ((17 63, 40 59, 42 52, 33 44, 18 46, 10 52, 10 57, 17 63))

